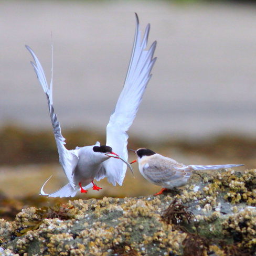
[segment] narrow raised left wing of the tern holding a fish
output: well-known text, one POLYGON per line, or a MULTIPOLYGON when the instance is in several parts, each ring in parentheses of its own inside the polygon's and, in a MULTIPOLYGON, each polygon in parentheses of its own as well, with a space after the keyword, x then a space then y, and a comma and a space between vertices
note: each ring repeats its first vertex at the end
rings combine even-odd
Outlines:
POLYGON ((59 162, 62 165, 62 168, 69 180, 69 183, 71 184, 72 188, 75 188, 73 179, 72 179, 72 170, 77 165, 78 162, 78 154, 76 150, 68 151, 67 148, 64 146, 66 144, 65 138, 61 135, 60 131, 60 124, 57 120, 57 116, 54 113, 54 106, 52 104, 52 67, 51 67, 51 82, 50 82, 50 88, 48 87, 48 83, 45 77, 44 70, 42 69, 42 66, 34 54, 33 50, 31 50, 28 46, 26 46, 30 54, 33 56, 35 63, 31 61, 32 66, 35 69, 35 72, 37 74, 37 79, 40 82, 42 89, 44 90, 46 94, 46 98, 48 101, 49 111, 50 111, 50 118, 51 118, 51 124, 54 128, 54 136, 59 152, 59 162))

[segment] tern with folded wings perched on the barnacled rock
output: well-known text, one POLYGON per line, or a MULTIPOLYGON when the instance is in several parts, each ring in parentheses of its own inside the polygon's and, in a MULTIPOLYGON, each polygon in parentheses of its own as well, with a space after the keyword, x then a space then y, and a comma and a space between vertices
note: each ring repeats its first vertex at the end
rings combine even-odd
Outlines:
POLYGON ((161 195, 165 190, 186 185, 193 170, 215 170, 243 165, 184 165, 176 162, 172 158, 168 158, 157 154, 152 150, 148 150, 147 148, 138 148, 136 151, 131 151, 135 152, 137 155, 137 159, 132 163, 138 162, 138 169, 142 176, 149 182, 163 187, 162 190, 154 196, 161 195))

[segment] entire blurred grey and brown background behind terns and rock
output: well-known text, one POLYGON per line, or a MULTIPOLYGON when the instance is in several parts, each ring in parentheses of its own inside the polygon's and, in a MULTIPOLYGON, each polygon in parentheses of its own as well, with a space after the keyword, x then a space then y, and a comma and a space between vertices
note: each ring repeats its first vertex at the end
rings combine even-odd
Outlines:
MULTIPOLYGON (((25 45, 50 81, 52 41, 54 106, 67 147, 105 144, 129 65, 135 12, 143 32, 151 23, 148 42, 157 40, 157 61, 128 132, 129 148, 148 147, 184 164, 255 168, 254 1, 0 0, 0 217, 46 204, 38 194, 50 175, 45 191, 67 184, 25 45)), ((144 180, 137 164, 133 168, 136 179, 127 172, 122 187, 102 180, 102 190, 78 198, 161 189, 144 180)))

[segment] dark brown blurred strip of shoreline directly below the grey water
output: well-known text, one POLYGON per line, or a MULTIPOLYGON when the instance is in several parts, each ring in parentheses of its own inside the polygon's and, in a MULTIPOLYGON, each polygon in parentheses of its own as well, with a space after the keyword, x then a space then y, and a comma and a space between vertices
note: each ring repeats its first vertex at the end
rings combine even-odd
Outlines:
MULTIPOLYGON (((76 146, 94 145, 99 141, 105 144, 105 132, 71 129, 62 130, 68 150, 76 146)), ((151 148, 154 151, 179 152, 184 155, 202 155, 209 158, 243 159, 247 161, 256 156, 256 137, 246 134, 219 134, 207 138, 187 140, 183 137, 166 137, 154 140, 130 136, 128 147, 151 148)), ((58 161, 58 151, 54 134, 50 130, 31 130, 19 126, 7 125, 0 129, 0 166, 22 164, 49 164, 58 161)), ((130 153, 130 152, 129 152, 130 153)), ((252 168, 252 166, 250 166, 252 168)))

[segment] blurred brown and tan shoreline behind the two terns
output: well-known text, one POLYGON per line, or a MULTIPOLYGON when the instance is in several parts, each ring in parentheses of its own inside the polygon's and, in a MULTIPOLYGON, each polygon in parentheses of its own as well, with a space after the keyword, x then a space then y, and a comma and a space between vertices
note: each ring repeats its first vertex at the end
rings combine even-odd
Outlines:
MULTIPOLYGON (((88 130, 65 131, 67 148, 93 145, 96 141, 104 144, 104 133, 88 130)), ((153 151, 184 164, 244 164, 239 170, 256 167, 256 138, 236 135, 219 135, 207 140, 189 141, 173 138, 152 142, 130 137, 129 148, 151 148, 153 151)), ((0 190, 11 198, 38 195, 41 185, 51 175, 47 190, 55 191, 66 185, 67 178, 58 163, 58 151, 51 131, 31 131, 16 126, 6 126, 0 130, 0 190), (51 185, 50 185, 51 184, 51 185)), ((135 159, 129 152, 129 161, 135 159)), ((159 187, 148 183, 133 165, 136 179, 127 172, 124 185, 113 187, 106 180, 99 182, 106 189, 93 191, 91 196, 138 196, 155 193, 159 187), (131 191, 130 185, 134 188, 131 191), (94 195, 95 194, 95 195, 94 195)), ((86 196, 86 197, 87 197, 86 196)))

